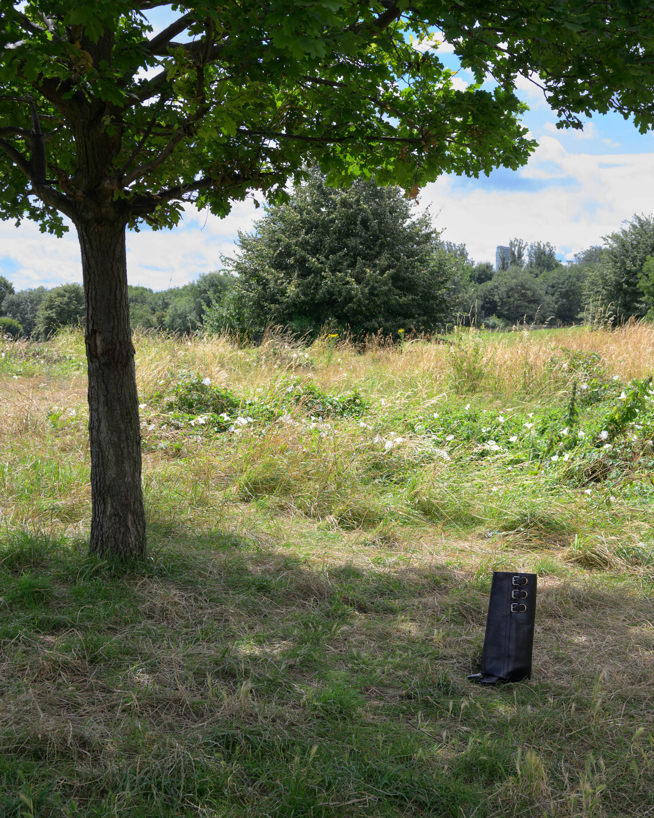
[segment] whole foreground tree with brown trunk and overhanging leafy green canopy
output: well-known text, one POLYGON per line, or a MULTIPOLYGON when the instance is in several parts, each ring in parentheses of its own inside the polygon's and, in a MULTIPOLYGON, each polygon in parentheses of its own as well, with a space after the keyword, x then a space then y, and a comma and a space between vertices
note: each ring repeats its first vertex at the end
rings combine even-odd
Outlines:
POLYGON ((329 183, 372 173, 412 196, 443 172, 515 169, 535 146, 517 122, 518 72, 540 72, 571 127, 613 107, 647 128, 654 88, 639 0, 192 0, 148 38, 158 5, 2 2, 0 217, 60 234, 63 215, 78 232, 91 550, 121 559, 146 554, 126 227, 172 227, 185 202, 219 215, 255 191, 280 202, 307 164, 329 183), (477 76, 465 91, 410 43, 434 26, 477 76))

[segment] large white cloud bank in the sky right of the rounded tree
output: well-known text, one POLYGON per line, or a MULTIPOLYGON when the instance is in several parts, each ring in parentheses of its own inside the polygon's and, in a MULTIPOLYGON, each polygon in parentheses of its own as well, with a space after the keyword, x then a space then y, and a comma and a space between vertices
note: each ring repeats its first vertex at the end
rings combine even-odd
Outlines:
POLYGON ((456 178, 443 176, 424 188, 420 201, 432 205, 437 227, 446 228, 444 237, 465 242, 479 261, 495 258, 495 246, 513 236, 551 241, 572 258, 580 249, 601 244, 602 236, 625 218, 652 212, 646 182, 652 173, 651 153, 571 153, 557 139, 541 137, 513 189, 483 182, 459 185, 456 178))

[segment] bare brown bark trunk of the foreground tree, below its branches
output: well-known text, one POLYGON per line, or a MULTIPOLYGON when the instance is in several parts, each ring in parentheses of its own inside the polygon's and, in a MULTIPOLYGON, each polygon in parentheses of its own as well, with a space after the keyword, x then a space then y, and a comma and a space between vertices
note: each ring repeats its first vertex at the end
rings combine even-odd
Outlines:
POLYGON ((86 299, 91 553, 146 557, 141 430, 129 323, 125 223, 78 220, 86 299))

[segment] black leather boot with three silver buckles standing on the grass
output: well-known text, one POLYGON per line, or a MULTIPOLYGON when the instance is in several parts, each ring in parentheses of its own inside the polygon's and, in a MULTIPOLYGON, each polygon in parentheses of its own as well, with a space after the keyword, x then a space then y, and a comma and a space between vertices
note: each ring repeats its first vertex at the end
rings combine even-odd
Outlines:
POLYGON ((503 685, 531 678, 536 574, 494 571, 486 617, 482 670, 468 681, 503 685))

